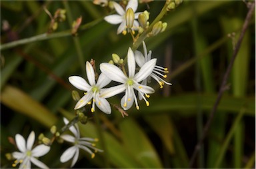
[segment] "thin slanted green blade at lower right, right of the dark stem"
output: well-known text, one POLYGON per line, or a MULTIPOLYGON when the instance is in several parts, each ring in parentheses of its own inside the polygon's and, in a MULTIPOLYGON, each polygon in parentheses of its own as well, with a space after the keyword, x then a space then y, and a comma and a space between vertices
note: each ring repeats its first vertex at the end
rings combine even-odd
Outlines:
POLYGON ((239 126, 239 123, 243 117, 243 114, 245 113, 245 107, 241 108, 239 114, 237 115, 237 117, 235 118, 228 134, 227 134, 227 137, 225 138, 222 146, 221 146, 221 150, 219 152, 219 156, 216 160, 216 163, 215 163, 215 167, 214 168, 219 168, 224 156, 225 156, 225 152, 227 150, 227 147, 229 146, 229 142, 231 141, 231 138, 232 136, 234 135, 235 133, 235 130, 237 129, 237 126, 239 126))

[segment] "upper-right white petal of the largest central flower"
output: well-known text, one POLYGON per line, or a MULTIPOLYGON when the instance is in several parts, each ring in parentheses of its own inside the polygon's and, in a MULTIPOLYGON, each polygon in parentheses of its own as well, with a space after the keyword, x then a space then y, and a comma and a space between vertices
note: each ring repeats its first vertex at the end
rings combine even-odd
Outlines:
POLYGON ((137 83, 143 81, 149 75, 152 73, 153 69, 155 68, 155 64, 157 63, 157 59, 151 59, 147 63, 141 67, 139 72, 134 76, 134 80, 137 81, 137 83))

